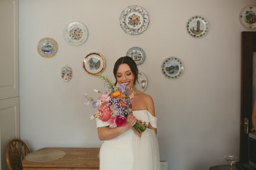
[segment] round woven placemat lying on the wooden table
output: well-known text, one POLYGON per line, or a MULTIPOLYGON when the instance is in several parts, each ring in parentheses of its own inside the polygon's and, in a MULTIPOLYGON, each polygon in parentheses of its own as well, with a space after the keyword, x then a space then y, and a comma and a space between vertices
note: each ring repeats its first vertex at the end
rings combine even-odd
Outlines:
POLYGON ((66 153, 62 150, 47 149, 29 153, 25 156, 25 159, 32 162, 47 162, 60 159, 65 155, 66 153))

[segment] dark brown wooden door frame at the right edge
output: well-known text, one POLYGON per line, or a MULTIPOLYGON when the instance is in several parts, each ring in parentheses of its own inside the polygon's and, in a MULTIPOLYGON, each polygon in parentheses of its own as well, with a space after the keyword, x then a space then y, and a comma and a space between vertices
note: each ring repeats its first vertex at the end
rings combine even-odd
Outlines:
POLYGON ((256 51, 256 32, 243 31, 241 33, 241 117, 240 117, 240 153, 239 161, 248 163, 248 136, 252 129, 253 112, 253 52, 256 51), (244 132, 244 119, 249 120, 248 132, 244 132))

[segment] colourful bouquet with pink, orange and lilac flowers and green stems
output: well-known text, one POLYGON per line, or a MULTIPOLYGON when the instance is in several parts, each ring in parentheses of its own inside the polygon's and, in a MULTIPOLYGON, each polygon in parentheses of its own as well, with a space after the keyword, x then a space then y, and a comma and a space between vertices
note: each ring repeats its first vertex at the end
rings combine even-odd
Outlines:
MULTIPOLYGON (((110 127, 125 126, 127 123, 126 117, 131 112, 134 90, 127 88, 124 83, 116 88, 107 76, 94 75, 104 81, 103 87, 107 89, 103 92, 94 89, 95 92, 101 94, 97 101, 94 101, 92 97, 87 97, 87 93, 84 92, 84 96, 88 99, 85 104, 89 105, 91 103, 92 108, 97 108, 97 112, 91 115, 90 119, 98 118, 103 122, 108 122, 110 127)), ((138 121, 134 127, 139 133, 146 130, 146 125, 138 121)))

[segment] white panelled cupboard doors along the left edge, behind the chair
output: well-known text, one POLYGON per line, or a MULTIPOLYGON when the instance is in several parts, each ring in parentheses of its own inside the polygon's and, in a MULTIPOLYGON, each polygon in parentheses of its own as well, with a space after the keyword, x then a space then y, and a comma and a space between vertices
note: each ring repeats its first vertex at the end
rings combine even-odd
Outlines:
POLYGON ((18 0, 0 0, 0 170, 7 170, 5 147, 20 138, 18 0))

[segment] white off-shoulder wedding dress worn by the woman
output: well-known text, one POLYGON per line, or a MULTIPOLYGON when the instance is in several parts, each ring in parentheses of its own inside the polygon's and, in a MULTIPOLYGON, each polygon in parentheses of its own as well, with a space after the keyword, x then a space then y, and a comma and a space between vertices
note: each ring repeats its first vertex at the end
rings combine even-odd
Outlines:
MULTIPOLYGON (((133 111, 133 115, 157 128, 157 118, 147 110, 133 111)), ((108 122, 96 119, 97 127, 108 122)), ((159 148, 154 130, 147 128, 141 137, 132 129, 114 139, 103 142, 99 151, 100 170, 160 170, 159 148)))

